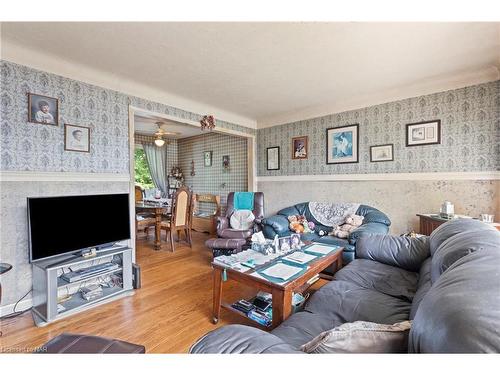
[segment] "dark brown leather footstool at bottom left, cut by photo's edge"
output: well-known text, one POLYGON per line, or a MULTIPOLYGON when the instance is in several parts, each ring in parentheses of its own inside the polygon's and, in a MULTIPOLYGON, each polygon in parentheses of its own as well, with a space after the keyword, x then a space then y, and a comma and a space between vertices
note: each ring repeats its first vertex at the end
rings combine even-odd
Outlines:
POLYGON ((146 348, 142 345, 130 342, 110 339, 107 337, 73 335, 63 333, 54 337, 48 343, 40 346, 36 353, 145 353, 146 348))

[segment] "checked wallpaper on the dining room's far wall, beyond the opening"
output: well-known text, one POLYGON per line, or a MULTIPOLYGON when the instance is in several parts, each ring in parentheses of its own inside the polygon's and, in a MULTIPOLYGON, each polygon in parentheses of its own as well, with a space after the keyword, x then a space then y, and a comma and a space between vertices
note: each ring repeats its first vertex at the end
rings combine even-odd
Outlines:
MULTIPOLYGON (((231 191, 248 188, 247 141, 244 138, 210 133, 178 140, 179 166, 186 178, 186 185, 195 193, 217 194, 222 206, 226 205, 231 191), (203 164, 203 152, 212 151, 212 166, 203 164), (222 157, 229 155, 230 168, 222 167, 222 157), (195 163, 195 176, 191 176, 191 161, 195 163)), ((213 210, 213 205, 201 206, 202 211, 213 210)))

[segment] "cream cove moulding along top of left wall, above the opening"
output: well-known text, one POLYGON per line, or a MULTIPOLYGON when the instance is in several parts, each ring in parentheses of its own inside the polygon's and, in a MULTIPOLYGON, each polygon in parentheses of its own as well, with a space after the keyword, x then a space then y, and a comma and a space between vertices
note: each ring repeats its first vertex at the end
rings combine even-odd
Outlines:
POLYGON ((6 37, 3 37, 1 42, 2 51, 0 58, 6 61, 116 90, 127 95, 137 96, 186 111, 202 115, 212 114, 215 118, 248 128, 257 128, 257 122, 254 119, 241 116, 237 113, 156 89, 130 80, 127 77, 118 76, 113 72, 104 72, 75 61, 65 60, 62 56, 54 56, 37 49, 27 48, 6 37))

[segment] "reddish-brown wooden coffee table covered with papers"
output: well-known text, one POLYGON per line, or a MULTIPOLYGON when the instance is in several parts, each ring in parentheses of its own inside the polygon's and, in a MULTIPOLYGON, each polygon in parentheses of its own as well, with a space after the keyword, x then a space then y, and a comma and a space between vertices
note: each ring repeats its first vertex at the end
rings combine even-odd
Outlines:
POLYGON ((245 284, 247 286, 253 287, 255 289, 271 293, 273 297, 273 321, 270 327, 264 327, 259 325, 260 328, 266 330, 271 330, 280 325, 284 320, 286 320, 292 313, 292 294, 293 293, 303 293, 306 291, 310 285, 307 281, 313 276, 319 274, 321 271, 328 268, 333 263, 337 264, 337 270, 342 267, 342 252, 343 248, 332 251, 331 253, 318 257, 308 264, 309 268, 299 277, 290 280, 285 284, 276 284, 272 281, 251 275, 256 270, 267 268, 270 264, 276 262, 279 258, 275 258, 270 262, 258 266, 256 269, 251 269, 245 272, 234 270, 231 268, 226 268, 216 263, 212 263, 213 266, 213 279, 214 279, 214 295, 213 295, 213 323, 217 324, 219 321, 221 307, 236 313, 240 316, 247 318, 250 322, 258 324, 248 318, 246 314, 235 309, 231 306, 231 303, 226 303, 222 301, 222 290, 223 290, 223 272, 226 270, 227 280, 234 280, 239 283, 245 284))

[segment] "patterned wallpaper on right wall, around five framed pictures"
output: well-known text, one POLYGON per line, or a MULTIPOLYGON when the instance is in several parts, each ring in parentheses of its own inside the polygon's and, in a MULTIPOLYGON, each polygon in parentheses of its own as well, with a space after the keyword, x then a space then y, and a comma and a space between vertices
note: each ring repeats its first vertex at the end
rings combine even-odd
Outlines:
POLYGON ((260 129, 258 175, 491 171, 500 168, 500 81, 260 129), (439 145, 405 147, 406 124, 441 119, 439 145), (326 164, 330 127, 359 124, 359 163, 326 164), (291 140, 309 136, 309 158, 292 160, 291 140), (370 162, 372 145, 394 144, 394 161, 370 162), (268 171, 266 148, 280 146, 268 171))

